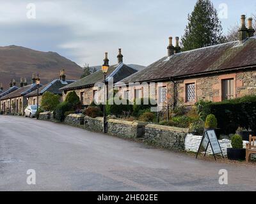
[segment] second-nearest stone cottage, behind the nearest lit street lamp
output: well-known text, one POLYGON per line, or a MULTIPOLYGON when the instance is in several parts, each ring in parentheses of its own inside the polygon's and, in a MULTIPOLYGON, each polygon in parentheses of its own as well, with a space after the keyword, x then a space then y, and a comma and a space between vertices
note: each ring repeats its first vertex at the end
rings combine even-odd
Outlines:
MULTIPOLYGON (((136 73, 138 70, 134 69, 123 62, 122 50, 119 49, 118 53, 118 64, 109 66, 108 74, 106 76, 106 82, 109 79, 113 79, 113 83, 116 83, 130 75, 136 73)), ((106 53, 104 63, 108 64, 108 53, 106 53)), ((102 70, 96 71, 87 77, 84 77, 76 82, 69 84, 60 90, 63 91, 63 100, 65 100, 68 92, 76 91, 77 96, 81 99, 81 104, 83 106, 88 106, 93 102, 93 99, 96 101, 100 100, 99 87, 97 83, 104 82, 104 75, 102 70)))

